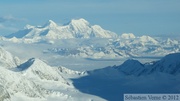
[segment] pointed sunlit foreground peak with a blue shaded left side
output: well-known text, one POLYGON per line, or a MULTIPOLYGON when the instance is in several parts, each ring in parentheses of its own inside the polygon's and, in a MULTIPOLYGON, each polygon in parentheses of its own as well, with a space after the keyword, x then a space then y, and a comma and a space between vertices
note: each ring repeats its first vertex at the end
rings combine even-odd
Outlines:
POLYGON ((61 81, 62 83, 67 84, 60 75, 58 68, 51 67, 39 59, 31 58, 18 66, 17 69, 28 78, 61 81))

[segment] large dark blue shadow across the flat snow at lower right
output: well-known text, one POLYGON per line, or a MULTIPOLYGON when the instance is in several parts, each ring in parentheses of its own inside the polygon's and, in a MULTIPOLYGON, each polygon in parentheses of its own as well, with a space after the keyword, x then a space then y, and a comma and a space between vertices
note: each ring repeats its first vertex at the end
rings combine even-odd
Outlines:
POLYGON ((132 76, 112 67, 88 71, 88 75, 72 79, 81 92, 99 96, 108 101, 123 101, 123 94, 180 93, 179 76, 163 73, 132 76))

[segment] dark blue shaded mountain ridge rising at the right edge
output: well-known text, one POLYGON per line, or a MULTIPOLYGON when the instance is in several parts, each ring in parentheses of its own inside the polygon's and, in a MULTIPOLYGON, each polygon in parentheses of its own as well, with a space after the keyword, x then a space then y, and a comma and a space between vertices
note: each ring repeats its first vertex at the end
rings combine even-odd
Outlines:
POLYGON ((127 75, 149 75, 155 72, 177 75, 180 73, 180 53, 173 53, 159 61, 142 64, 138 60, 127 60, 122 65, 114 67, 127 75))

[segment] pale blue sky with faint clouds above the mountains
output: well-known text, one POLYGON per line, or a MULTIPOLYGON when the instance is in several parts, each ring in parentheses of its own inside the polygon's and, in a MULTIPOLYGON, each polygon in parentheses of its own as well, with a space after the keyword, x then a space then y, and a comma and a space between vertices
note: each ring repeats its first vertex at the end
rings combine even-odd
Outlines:
POLYGON ((84 18, 117 34, 180 36, 180 0, 1 0, 0 35, 84 18))

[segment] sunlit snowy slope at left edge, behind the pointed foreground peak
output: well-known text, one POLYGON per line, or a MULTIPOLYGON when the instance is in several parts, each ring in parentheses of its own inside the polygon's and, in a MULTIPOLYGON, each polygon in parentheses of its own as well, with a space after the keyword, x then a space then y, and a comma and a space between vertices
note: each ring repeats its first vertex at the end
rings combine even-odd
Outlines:
POLYGON ((5 68, 15 68, 20 64, 18 57, 13 56, 8 51, 0 47, 0 66, 5 68))

